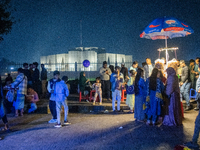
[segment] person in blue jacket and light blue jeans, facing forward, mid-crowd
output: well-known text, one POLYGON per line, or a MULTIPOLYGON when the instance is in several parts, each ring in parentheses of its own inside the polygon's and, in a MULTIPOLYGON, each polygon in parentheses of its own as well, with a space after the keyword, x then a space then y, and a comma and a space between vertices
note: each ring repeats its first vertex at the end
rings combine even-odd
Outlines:
POLYGON ((122 84, 123 84, 123 74, 120 73, 120 67, 115 67, 115 72, 110 76, 110 82, 112 84, 112 108, 113 112, 115 113, 115 101, 117 99, 117 111, 120 111, 120 102, 121 102, 121 95, 122 95, 122 84))

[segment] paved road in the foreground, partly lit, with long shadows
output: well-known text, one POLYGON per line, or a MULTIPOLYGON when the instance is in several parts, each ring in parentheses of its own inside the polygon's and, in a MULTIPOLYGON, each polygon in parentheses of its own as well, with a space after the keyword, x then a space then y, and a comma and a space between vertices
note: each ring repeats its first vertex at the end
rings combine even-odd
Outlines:
POLYGON ((146 126, 132 114, 70 113, 70 126, 54 128, 48 114, 9 115, 13 131, 0 132, 0 150, 172 150, 191 140, 197 113, 185 113, 182 127, 146 126))

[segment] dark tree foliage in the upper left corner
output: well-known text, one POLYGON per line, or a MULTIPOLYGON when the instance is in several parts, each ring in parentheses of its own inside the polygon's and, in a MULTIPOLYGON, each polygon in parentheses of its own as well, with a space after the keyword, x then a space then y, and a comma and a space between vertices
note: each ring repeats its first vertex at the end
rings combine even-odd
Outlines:
POLYGON ((10 8, 10 0, 0 0, 0 41, 3 40, 3 35, 11 31, 14 23, 10 8))

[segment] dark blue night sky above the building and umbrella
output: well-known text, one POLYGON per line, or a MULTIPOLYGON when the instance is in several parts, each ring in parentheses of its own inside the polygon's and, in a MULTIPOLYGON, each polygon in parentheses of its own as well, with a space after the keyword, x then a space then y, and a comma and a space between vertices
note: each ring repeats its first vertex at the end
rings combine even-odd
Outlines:
POLYGON ((164 40, 139 37, 154 19, 173 16, 194 33, 168 40, 179 47, 178 59, 200 56, 199 0, 12 0, 16 24, 0 43, 0 55, 15 62, 39 61, 42 55, 65 53, 80 46, 106 48, 107 52, 133 55, 133 60, 155 60, 164 40))

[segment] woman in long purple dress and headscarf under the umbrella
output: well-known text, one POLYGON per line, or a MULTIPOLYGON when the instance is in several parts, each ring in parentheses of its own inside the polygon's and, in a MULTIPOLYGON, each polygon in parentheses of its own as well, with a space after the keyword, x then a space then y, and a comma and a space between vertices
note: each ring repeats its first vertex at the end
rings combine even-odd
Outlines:
POLYGON ((167 68, 166 94, 169 100, 166 101, 167 110, 163 125, 179 126, 182 124, 180 89, 178 76, 176 76, 176 71, 172 67, 167 68))

